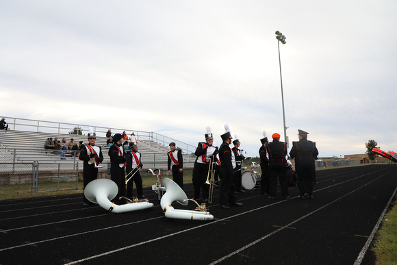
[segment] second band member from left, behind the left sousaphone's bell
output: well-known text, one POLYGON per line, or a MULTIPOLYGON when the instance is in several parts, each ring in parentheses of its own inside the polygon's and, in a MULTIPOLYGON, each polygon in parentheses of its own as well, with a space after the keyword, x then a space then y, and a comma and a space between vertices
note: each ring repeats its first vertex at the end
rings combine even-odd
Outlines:
POLYGON ((123 204, 125 200, 119 200, 125 197, 125 153, 123 149, 123 137, 121 134, 115 134, 113 137, 113 145, 110 147, 108 155, 110 156, 110 177, 116 182, 118 193, 114 199, 115 204, 123 204))

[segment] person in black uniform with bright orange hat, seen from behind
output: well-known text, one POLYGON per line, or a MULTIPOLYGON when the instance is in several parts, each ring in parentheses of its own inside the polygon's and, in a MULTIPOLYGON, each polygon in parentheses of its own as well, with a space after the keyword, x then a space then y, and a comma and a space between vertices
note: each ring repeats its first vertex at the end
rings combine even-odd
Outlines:
POLYGON ((280 134, 272 135, 273 141, 265 144, 265 149, 267 152, 269 160, 269 199, 274 199, 277 193, 277 177, 279 177, 279 182, 281 186, 281 196, 285 199, 290 199, 290 194, 288 192, 287 186, 287 144, 285 142, 280 142, 280 134))

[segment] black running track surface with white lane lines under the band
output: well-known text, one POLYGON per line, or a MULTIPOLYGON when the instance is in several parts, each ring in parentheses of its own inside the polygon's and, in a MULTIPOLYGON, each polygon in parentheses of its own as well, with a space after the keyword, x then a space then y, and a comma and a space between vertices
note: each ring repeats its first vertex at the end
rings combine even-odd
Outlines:
MULTIPOLYGON (((212 221, 164 217, 149 189, 155 206, 125 214, 83 207, 82 194, 0 201, 0 264, 374 264, 397 166, 318 171, 317 181, 313 200, 297 199, 296 187, 289 200, 249 190, 230 210, 216 189, 212 221)), ((185 192, 192 198, 192 185, 185 192)))

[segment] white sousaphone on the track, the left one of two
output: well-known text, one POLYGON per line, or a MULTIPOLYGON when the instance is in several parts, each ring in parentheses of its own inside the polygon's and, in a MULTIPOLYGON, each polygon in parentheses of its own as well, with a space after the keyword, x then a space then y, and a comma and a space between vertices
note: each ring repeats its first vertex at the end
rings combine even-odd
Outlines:
POLYGON ((110 200, 116 197, 117 192, 118 187, 114 181, 110 179, 95 179, 91 181, 84 189, 84 196, 88 199, 88 201, 97 203, 103 207, 103 209, 109 212, 114 212, 115 214, 153 207, 153 203, 149 203, 148 201, 116 205, 110 200))

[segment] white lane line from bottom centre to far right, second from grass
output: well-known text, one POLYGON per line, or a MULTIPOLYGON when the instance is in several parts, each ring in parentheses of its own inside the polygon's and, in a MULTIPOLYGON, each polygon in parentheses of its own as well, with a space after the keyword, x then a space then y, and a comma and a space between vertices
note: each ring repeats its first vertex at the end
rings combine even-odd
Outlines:
MULTIPOLYGON (((389 172, 388 172, 388 173, 389 173, 389 172)), ((366 175, 368 175, 368 174, 366 174, 366 175)), ((385 174, 383 174, 383 175, 381 175, 381 176, 379 176, 379 177, 376 177, 376 179, 379 179, 379 178, 383 177, 384 175, 387 175, 387 173, 385 173, 385 174)), ((355 179, 356 179, 356 178, 355 178, 355 179)), ((235 255, 235 254, 237 254, 237 253, 240 253, 240 252, 243 251, 244 249, 248 249, 248 247, 252 247, 254 244, 257 244, 258 242, 261 242, 262 240, 264 240, 264 239, 266 239, 266 238, 268 238, 268 237, 270 237, 270 236, 272 236, 272 235, 278 233, 279 231, 281 231, 281 230, 283 230, 283 229, 285 229, 285 228, 287 228, 287 227, 290 227, 291 225, 294 225, 294 223, 297 223, 298 221, 303 220, 303 219, 306 218, 307 216, 311 216, 311 214, 314 214, 314 213, 316 213, 316 212, 318 212, 318 211, 324 209, 324 207, 327 207, 327 206, 329 206, 329 205, 335 203, 336 201, 339 201, 340 199, 342 199, 342 198, 344 198, 344 197, 347 197, 348 195, 352 194, 353 192, 356 192, 357 190, 359 190, 359 189, 361 189, 361 188, 367 186, 368 184, 372 183, 372 182, 375 181, 376 179, 372 179, 372 181, 367 182, 366 184, 363 184, 363 186, 360 186, 359 188, 357 188, 357 189, 355 189, 355 190, 352 190, 351 192, 348 192, 347 194, 344 194, 344 196, 339 197, 339 198, 335 199, 334 201, 331 201, 330 203, 327 203, 326 205, 324 205, 324 206, 318 208, 317 210, 314 210, 313 212, 309 212, 309 214, 306 214, 306 215, 304 215, 304 216, 302 216, 302 217, 300 217, 300 218, 298 218, 298 219, 292 221, 291 223, 289 223, 289 224, 287 224, 287 225, 284 225, 283 227, 281 227, 281 228, 279 228, 279 229, 277 229, 277 230, 275 230, 275 231, 272 231, 270 234, 267 234, 266 236, 263 236, 263 237, 261 237, 261 238, 255 240, 255 241, 251 242, 250 244, 246 244, 244 247, 242 247, 242 248, 240 248, 240 249, 238 249, 238 250, 236 250, 236 251, 233 251, 232 253, 229 253, 228 255, 225 255, 225 256, 221 257, 219 260, 216 260, 216 261, 210 263, 209 265, 218 264, 219 262, 222 262, 223 260, 226 260, 227 258, 231 257, 232 255, 235 255)), ((352 180, 353 180, 353 179, 352 179, 352 180)), ((346 181, 344 181, 344 182, 346 182, 346 181)), ((343 182, 342 182, 342 183, 343 183, 343 182)), ((393 198, 393 197, 392 197, 392 198, 393 198)))

